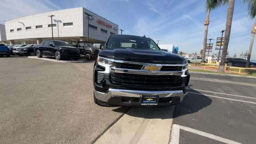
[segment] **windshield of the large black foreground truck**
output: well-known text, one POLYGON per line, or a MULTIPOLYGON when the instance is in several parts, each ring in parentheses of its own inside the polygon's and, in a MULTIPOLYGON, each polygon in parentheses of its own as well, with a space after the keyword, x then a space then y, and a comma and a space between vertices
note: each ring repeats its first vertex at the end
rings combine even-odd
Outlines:
POLYGON ((109 49, 131 48, 136 50, 160 50, 156 43, 150 38, 140 36, 112 35, 106 46, 109 49))

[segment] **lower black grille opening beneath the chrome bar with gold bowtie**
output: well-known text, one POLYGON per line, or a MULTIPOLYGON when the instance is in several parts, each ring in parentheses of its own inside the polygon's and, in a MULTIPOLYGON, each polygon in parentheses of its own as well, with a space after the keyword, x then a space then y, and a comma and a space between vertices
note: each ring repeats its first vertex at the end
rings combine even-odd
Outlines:
POLYGON ((175 75, 144 75, 110 73, 110 80, 113 84, 140 85, 140 86, 180 86, 181 77, 175 75))

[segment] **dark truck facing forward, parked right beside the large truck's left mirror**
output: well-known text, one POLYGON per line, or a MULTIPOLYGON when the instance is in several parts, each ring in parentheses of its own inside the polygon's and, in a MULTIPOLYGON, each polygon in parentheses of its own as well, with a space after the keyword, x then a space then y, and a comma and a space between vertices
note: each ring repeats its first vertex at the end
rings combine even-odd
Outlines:
POLYGON ((96 59, 100 52, 92 42, 78 41, 76 47, 80 50, 80 56, 86 60, 96 59))

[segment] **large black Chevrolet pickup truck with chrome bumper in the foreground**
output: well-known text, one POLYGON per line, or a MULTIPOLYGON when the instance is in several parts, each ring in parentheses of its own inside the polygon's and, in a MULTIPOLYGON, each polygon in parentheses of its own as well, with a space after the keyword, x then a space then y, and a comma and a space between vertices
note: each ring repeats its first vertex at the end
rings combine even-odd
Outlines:
POLYGON ((187 94, 189 79, 188 61, 183 56, 164 52, 145 36, 114 34, 94 63, 94 102, 111 106, 175 105, 187 94))

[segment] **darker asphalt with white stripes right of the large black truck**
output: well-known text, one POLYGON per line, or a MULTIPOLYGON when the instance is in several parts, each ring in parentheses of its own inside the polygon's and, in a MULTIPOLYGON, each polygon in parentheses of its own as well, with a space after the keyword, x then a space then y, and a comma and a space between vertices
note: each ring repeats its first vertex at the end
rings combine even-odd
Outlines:
POLYGON ((189 87, 174 112, 172 131, 181 127, 179 136, 172 136, 174 144, 177 138, 180 144, 255 143, 254 78, 192 73, 189 87))

